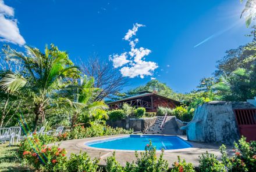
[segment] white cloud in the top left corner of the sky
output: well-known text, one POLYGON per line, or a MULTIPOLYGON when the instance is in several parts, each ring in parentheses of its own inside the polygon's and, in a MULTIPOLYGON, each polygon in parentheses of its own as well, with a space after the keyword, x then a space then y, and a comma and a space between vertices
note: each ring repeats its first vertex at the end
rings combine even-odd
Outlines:
POLYGON ((24 45, 26 42, 20 35, 17 20, 13 17, 14 9, 0 0, 0 41, 24 45))

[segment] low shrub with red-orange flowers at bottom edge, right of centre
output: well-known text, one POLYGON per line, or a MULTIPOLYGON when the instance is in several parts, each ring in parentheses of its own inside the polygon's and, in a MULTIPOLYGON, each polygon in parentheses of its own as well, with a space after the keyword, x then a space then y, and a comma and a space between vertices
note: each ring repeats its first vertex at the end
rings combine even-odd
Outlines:
POLYGON ((172 164, 172 170, 171 172, 180 172, 180 171, 186 171, 186 172, 195 172, 193 164, 186 163, 186 160, 180 160, 180 157, 178 156, 178 161, 174 162, 172 164))

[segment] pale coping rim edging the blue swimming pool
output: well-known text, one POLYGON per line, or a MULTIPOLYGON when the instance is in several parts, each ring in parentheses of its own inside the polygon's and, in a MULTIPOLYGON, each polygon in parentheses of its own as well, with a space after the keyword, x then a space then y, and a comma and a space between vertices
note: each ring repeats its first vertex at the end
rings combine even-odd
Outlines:
MULTIPOLYGON (((115 138, 125 138, 126 136, 129 137, 131 135, 141 135, 141 136, 171 136, 171 137, 179 137, 182 141, 185 141, 187 144, 189 144, 191 147, 193 148, 193 144, 191 144, 189 141, 187 141, 187 139, 185 140, 184 138, 177 136, 177 135, 166 135, 166 134, 122 134, 121 136, 114 136, 114 137, 109 137, 109 138, 98 138, 95 140, 90 140, 90 141, 86 141, 83 144, 80 142, 79 144, 77 144, 77 147, 80 148, 86 148, 86 149, 95 149, 97 151, 111 151, 111 152, 144 152, 145 150, 127 150, 127 149, 105 149, 105 148, 95 148, 95 147, 90 147, 90 145, 86 145, 88 143, 91 142, 97 142, 97 141, 103 141, 103 140, 114 140, 115 138)), ((154 146, 154 145, 153 145, 154 146)), ((165 152, 180 152, 180 151, 190 151, 190 148, 182 148, 182 149, 165 149, 165 152)), ((156 150, 157 152, 162 152, 162 150, 156 150)))

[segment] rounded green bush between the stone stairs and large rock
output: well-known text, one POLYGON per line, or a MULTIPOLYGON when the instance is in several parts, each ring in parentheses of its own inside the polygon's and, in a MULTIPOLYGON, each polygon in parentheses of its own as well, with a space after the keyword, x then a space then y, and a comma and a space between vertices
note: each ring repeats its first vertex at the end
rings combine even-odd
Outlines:
POLYGON ((188 111, 187 108, 182 106, 173 109, 172 115, 185 122, 190 122, 190 120, 193 118, 193 112, 188 111))

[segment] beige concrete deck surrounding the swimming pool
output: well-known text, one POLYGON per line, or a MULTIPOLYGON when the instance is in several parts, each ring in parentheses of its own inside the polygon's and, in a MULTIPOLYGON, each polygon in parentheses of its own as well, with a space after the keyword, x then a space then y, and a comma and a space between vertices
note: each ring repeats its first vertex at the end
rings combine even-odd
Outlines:
MULTIPOLYGON (((113 149, 100 149, 100 148, 93 148, 88 147, 85 145, 86 142, 102 140, 105 138, 114 138, 114 137, 122 137, 127 136, 127 134, 123 135, 115 135, 115 136, 102 136, 102 137, 91 137, 91 138, 83 138, 77 140, 66 140, 62 141, 60 146, 61 148, 65 148, 67 151, 67 156, 70 156, 70 153, 79 153, 87 152, 91 158, 101 158, 99 161, 99 165, 104 166, 105 159, 108 156, 111 156, 112 153, 116 152, 116 160, 122 165, 125 166, 126 162, 133 162, 136 161, 136 157, 134 152, 135 151, 126 151, 126 150, 113 150, 113 149)), ((164 135, 160 135, 164 136, 164 135)), ((169 135, 168 135, 169 136, 169 135)), ((179 136, 187 141, 186 136, 179 136)), ((216 156, 221 157, 221 153, 219 152, 219 146, 221 144, 204 144, 199 142, 189 142, 193 147, 191 148, 184 148, 184 149, 173 149, 173 150, 166 150, 163 154, 163 158, 168 160, 169 166, 172 166, 172 163, 177 160, 177 156, 180 156, 181 159, 186 159, 186 162, 193 163, 195 167, 198 166, 199 157, 202 153, 208 151, 209 153, 214 153, 216 156)), ((143 152, 143 151, 138 151, 143 152)), ((157 151, 157 156, 161 154, 161 151, 157 151)), ((232 147, 227 147, 227 154, 232 155, 232 147)))

